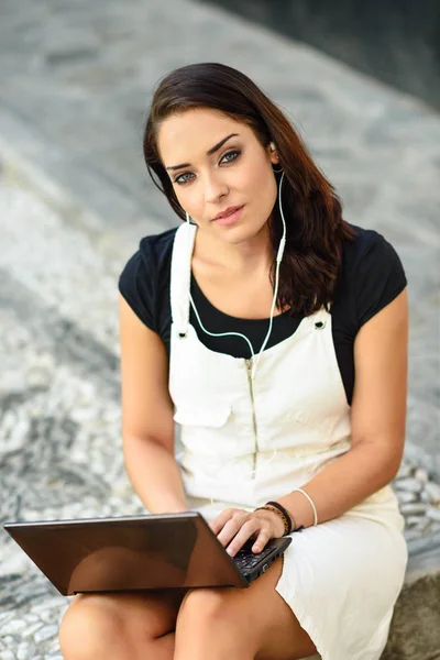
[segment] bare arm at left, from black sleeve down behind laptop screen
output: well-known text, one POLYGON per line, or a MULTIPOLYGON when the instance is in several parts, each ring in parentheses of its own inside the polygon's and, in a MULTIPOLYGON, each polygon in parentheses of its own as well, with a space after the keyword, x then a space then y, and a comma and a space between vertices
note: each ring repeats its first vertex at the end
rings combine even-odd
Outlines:
POLYGON ((188 510, 174 455, 168 360, 161 338, 119 294, 122 442, 134 491, 152 513, 188 510))

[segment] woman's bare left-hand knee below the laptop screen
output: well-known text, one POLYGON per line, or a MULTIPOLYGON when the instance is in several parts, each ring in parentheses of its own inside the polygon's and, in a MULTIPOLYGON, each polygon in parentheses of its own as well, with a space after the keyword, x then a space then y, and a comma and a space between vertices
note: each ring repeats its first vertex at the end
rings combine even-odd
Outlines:
POLYGON ((106 596, 79 595, 66 610, 59 627, 64 660, 96 660, 121 646, 122 620, 106 596))

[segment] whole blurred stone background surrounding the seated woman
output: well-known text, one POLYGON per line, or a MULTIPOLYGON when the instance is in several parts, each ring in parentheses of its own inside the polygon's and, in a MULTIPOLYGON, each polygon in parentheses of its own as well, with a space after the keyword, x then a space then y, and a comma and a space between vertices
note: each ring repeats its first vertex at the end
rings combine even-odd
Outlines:
MULTIPOLYGON (((169 70, 229 64, 404 263, 410 562, 384 658, 440 658, 439 44, 436 0, 0 1, 2 522, 144 513, 121 450, 118 277, 179 220, 143 127, 169 70)), ((61 660, 68 602, 0 529, 0 660, 61 660)))

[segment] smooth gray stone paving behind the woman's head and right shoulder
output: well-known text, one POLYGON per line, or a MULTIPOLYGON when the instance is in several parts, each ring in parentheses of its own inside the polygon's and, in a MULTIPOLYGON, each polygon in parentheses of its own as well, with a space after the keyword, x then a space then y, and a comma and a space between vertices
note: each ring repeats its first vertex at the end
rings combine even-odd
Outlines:
POLYGON ((86 0, 22 0, 20 9, 9 0, 2 18, 0 136, 37 165, 51 194, 68 195, 70 222, 117 232, 127 255, 141 235, 176 222, 141 153, 147 105, 166 72, 232 64, 287 111, 345 218, 384 233, 410 275, 408 431, 440 474, 439 117, 309 47, 187 0, 110 0, 105 13, 86 0), (92 222, 74 212, 84 206, 92 222))

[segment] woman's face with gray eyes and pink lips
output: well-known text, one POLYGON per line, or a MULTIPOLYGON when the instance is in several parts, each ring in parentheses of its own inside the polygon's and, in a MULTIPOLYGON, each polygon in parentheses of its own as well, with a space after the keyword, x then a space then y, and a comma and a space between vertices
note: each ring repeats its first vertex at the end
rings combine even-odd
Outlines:
POLYGON ((232 244, 261 231, 276 201, 272 165, 277 156, 262 146, 252 129, 198 108, 166 119, 157 145, 180 206, 200 230, 232 244), (229 207, 243 208, 229 219, 215 220, 229 207))

